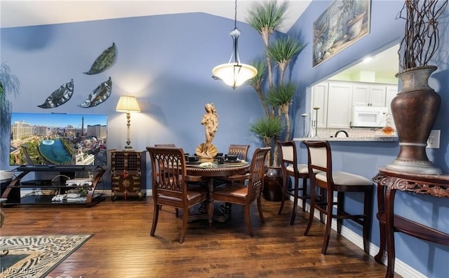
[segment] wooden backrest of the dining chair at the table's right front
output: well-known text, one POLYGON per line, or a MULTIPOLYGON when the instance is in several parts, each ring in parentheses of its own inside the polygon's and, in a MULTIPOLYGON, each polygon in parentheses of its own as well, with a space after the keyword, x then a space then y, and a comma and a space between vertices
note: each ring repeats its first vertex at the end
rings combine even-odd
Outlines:
POLYGON ((265 176, 265 160, 271 148, 257 148, 253 154, 250 166, 250 176, 248 182, 248 199, 246 202, 253 202, 262 193, 265 176))

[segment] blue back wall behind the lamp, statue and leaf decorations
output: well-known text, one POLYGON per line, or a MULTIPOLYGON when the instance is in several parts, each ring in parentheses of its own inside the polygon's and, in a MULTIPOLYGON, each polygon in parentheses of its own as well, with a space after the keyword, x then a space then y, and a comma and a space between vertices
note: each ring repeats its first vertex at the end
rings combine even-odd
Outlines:
MULTIPOLYGON (((260 141, 249 132, 249 125, 263 115, 255 90, 249 85, 232 90, 211 77, 213 67, 231 57, 233 27, 234 20, 187 13, 2 28, 1 62, 21 84, 20 94, 10 97, 13 111, 106 113, 107 146, 121 150, 126 144, 126 117, 115 107, 120 95, 129 93, 138 98, 142 110, 131 116, 135 150, 174 143, 194 153, 205 140, 204 105, 212 102, 220 116, 213 144, 223 153, 229 144, 250 144, 252 155, 260 141), (112 43, 117 49, 113 66, 101 74, 83 74, 112 43), (113 83, 109 99, 92 108, 77 106, 109 76, 113 83), (54 109, 37 107, 72 78, 72 99, 54 109)), ((260 35, 249 25, 238 27, 241 61, 263 55, 260 35)), ((1 161, 1 169, 8 169, 8 161, 1 161)))

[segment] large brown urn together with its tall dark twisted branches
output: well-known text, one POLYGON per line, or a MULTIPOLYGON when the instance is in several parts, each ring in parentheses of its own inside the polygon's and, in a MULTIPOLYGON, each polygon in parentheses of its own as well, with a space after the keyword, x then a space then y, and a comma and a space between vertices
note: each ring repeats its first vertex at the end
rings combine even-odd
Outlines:
POLYGON ((405 1, 398 18, 406 20, 405 34, 398 51, 401 71, 396 74, 403 85, 391 101, 391 114, 399 137, 400 151, 387 169, 418 174, 441 174, 429 161, 427 139, 434 125, 441 97, 429 87, 436 71, 429 64, 438 53, 438 18, 448 0, 405 1))

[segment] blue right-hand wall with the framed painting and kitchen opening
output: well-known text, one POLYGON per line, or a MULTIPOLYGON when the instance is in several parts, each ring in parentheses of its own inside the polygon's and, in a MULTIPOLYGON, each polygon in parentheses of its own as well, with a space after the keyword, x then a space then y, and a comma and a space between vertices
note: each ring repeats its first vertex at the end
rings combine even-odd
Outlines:
MULTIPOLYGON (((404 20, 396 20, 398 11, 401 11, 403 1, 379 1, 373 0, 371 3, 371 25, 370 34, 342 50, 337 55, 312 68, 312 24, 316 18, 326 10, 331 1, 312 1, 305 13, 301 15, 295 25, 290 29, 292 34, 302 34, 309 38, 309 45, 305 48, 295 62, 292 71, 293 79, 299 84, 300 92, 294 103, 295 111, 295 132, 294 137, 302 137, 302 113, 308 113, 310 107, 310 87, 318 83, 333 73, 346 69, 352 64, 360 62, 363 57, 370 53, 379 53, 381 50, 399 43, 403 36, 405 26, 404 20)), ((446 15, 449 11, 446 11, 446 15)), ((441 51, 447 55, 449 51, 448 17, 441 20, 441 51)), ((437 61, 438 71, 432 76, 429 84, 442 98, 441 108, 434 125, 434 130, 441 130, 440 148, 428 149, 429 160, 449 173, 449 155, 447 132, 448 118, 448 57, 441 55, 437 61)), ((300 161, 307 162, 307 154, 304 144, 300 144, 300 161)), ((335 170, 354 172, 372 178, 377 174, 379 167, 389 164, 398 154, 397 143, 360 143, 360 142, 331 142, 333 148, 333 167, 335 170)), ((377 200, 377 195, 375 195, 377 200)), ((360 198, 350 197, 347 200, 350 209, 361 207, 360 198), (351 207, 352 206, 352 207, 351 207)), ((375 202, 373 214, 373 232, 371 242, 379 245, 379 226, 375 214, 377 213, 377 203, 375 202)), ((413 194, 398 193, 396 195, 396 214, 406 216, 424 225, 437 228, 449 233, 449 206, 448 200, 443 198, 420 196, 413 194)), ((359 210, 360 211, 360 210, 359 210)), ((361 235, 361 229, 349 223, 344 224, 361 235)), ((424 274, 425 277, 447 277, 449 265, 449 246, 424 242, 403 234, 396 234, 396 258, 402 260, 410 267, 424 274)), ((396 265, 397 270, 397 265, 396 265)))

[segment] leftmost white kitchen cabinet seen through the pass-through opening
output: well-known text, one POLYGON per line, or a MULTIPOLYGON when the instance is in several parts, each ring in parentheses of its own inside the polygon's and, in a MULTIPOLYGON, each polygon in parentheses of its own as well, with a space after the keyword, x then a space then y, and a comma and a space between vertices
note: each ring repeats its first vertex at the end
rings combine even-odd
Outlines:
POLYGON ((328 83, 323 82, 314 85, 311 91, 311 127, 318 125, 319 128, 326 128, 328 120, 328 83), (314 107, 319 107, 316 115, 314 107))

